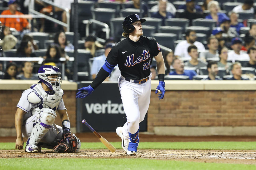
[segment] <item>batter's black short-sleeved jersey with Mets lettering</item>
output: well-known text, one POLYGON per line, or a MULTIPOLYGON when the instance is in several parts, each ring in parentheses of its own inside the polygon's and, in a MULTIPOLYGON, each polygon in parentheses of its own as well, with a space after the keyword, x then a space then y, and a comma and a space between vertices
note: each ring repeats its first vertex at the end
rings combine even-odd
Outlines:
POLYGON ((119 41, 109 52, 106 63, 110 66, 118 64, 121 75, 133 80, 141 80, 150 75, 153 57, 161 52, 154 38, 140 36, 137 42, 128 37, 119 41))

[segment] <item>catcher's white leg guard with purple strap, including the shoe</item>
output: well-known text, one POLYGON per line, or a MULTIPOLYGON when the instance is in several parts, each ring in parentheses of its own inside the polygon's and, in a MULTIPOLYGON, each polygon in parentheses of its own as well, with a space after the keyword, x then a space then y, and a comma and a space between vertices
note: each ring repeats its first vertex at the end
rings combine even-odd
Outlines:
POLYGON ((34 123, 31 131, 31 136, 27 139, 25 148, 26 152, 40 151, 37 145, 51 128, 51 125, 54 123, 56 117, 57 115, 52 109, 43 108, 39 111, 37 121, 34 123))

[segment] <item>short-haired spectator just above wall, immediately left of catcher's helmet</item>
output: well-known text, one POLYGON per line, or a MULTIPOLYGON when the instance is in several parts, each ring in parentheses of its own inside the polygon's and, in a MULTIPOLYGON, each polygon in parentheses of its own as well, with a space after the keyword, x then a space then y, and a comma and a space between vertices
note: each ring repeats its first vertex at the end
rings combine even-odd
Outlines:
POLYGON ((24 61, 21 64, 22 73, 17 75, 17 79, 21 80, 38 80, 37 74, 32 74, 34 63, 31 61, 24 61))

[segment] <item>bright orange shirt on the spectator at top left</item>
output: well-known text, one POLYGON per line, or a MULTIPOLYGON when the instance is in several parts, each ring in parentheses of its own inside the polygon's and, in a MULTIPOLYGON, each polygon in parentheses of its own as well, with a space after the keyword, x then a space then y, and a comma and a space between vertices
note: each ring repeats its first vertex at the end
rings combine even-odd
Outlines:
MULTIPOLYGON (((16 11, 12 14, 10 10, 4 10, 1 15, 23 15, 23 13, 16 11)), ((22 31, 29 24, 26 18, 0 18, 0 21, 3 25, 15 28, 17 31, 22 31)))

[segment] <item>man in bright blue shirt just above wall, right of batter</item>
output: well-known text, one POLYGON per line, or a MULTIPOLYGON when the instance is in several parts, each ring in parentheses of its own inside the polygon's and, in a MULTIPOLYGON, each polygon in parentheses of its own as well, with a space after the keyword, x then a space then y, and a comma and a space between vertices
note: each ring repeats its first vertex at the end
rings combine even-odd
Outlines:
POLYGON ((190 80, 193 79, 194 75, 197 75, 194 70, 184 70, 184 62, 179 57, 173 59, 172 65, 175 71, 171 72, 170 75, 186 75, 189 76, 190 80))

